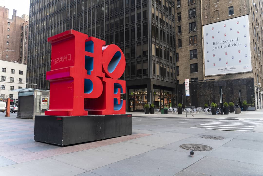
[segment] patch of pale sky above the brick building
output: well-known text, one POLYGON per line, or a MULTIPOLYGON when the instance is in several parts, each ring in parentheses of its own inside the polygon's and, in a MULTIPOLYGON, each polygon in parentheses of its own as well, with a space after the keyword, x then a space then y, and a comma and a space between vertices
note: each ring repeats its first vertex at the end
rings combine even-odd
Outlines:
POLYGON ((22 14, 29 15, 30 0, 0 0, 0 6, 9 9, 9 18, 12 18, 13 9, 17 10, 17 16, 22 14))

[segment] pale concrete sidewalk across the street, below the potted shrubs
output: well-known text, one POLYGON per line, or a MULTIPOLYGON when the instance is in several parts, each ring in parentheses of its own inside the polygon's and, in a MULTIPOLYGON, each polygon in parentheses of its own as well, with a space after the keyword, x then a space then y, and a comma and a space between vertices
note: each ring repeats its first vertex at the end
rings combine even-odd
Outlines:
MULTIPOLYGON (((158 117, 158 118, 186 118, 185 112, 183 114, 169 113, 169 114, 144 114, 138 112, 126 112, 126 114, 132 114, 133 117, 158 117)), ((263 120, 263 110, 257 111, 242 111, 241 114, 229 113, 229 115, 211 115, 204 113, 189 114, 187 118, 198 118, 198 119, 237 119, 237 120, 263 120)))

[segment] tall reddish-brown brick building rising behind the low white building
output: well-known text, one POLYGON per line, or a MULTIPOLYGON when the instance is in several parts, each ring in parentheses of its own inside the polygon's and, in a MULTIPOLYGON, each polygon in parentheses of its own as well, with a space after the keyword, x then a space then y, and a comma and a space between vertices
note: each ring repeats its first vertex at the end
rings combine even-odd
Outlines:
MULTIPOLYGON (((22 62, 25 19, 16 15, 13 9, 12 19, 8 17, 9 9, 0 6, 0 60, 22 62)), ((24 15, 24 17, 26 17, 24 15)))

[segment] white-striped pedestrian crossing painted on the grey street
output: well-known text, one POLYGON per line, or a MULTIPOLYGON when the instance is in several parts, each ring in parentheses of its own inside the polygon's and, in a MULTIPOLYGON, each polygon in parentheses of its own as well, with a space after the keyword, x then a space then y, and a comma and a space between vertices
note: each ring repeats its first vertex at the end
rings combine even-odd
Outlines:
POLYGON ((199 124, 191 128, 207 128, 212 130, 252 131, 256 126, 263 125, 262 120, 217 120, 199 124))

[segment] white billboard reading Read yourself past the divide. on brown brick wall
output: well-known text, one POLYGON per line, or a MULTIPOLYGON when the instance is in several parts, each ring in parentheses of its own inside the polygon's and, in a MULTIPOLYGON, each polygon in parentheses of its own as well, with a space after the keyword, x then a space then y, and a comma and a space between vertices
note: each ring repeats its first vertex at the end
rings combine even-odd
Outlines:
POLYGON ((251 71, 248 15, 203 26, 205 76, 251 71))

